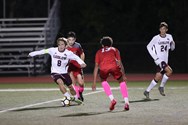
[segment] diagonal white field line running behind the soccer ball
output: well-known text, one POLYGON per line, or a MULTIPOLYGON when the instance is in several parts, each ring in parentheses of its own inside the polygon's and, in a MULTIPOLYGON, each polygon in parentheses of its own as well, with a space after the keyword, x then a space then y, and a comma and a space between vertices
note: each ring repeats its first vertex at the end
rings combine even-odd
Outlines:
MULTIPOLYGON (((118 89, 118 88, 112 88, 112 89, 118 89)), ((86 94, 83 94, 84 96, 87 95, 92 95, 92 94, 96 94, 96 93, 100 93, 103 92, 103 90, 100 91, 94 91, 94 92, 89 92, 86 94)), ((34 103, 34 104, 29 104, 29 105, 25 105, 25 106, 21 106, 21 107, 14 107, 14 108, 9 108, 9 109, 5 109, 0 111, 1 113, 5 113, 5 112, 9 112, 9 111, 14 111, 14 110, 20 110, 20 109, 24 109, 24 108, 29 108, 29 107, 33 107, 33 106, 39 106, 39 105, 43 105, 43 104, 47 104, 47 103, 52 103, 52 102, 57 102, 60 101, 61 99, 54 99, 54 100, 50 100, 50 101, 45 101, 45 102, 40 102, 40 103, 34 103)))

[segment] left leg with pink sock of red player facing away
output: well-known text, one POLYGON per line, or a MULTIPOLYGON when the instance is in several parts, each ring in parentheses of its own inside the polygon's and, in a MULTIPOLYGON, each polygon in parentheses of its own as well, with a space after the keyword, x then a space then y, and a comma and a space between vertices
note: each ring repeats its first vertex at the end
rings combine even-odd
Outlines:
POLYGON ((100 71, 101 84, 104 89, 104 92, 106 93, 106 95, 109 97, 109 99, 111 101, 109 109, 110 109, 110 111, 112 111, 115 108, 116 100, 114 99, 114 96, 111 91, 111 87, 106 80, 108 75, 109 75, 108 71, 102 71, 102 70, 100 71))

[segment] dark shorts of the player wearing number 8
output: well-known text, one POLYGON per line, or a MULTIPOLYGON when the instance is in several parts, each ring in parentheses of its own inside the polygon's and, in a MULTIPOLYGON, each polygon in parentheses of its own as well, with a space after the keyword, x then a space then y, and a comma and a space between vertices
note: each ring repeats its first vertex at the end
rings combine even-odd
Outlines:
POLYGON ((69 86, 72 84, 72 80, 71 80, 69 74, 51 73, 51 77, 53 78, 54 82, 56 82, 56 83, 57 83, 58 79, 62 79, 65 85, 69 86))

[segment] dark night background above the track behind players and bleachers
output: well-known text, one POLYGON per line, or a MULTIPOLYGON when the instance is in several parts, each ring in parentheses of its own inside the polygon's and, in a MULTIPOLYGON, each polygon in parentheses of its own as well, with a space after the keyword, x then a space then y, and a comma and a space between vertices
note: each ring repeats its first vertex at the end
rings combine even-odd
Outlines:
MULTIPOLYGON (((6 0, 6 17, 46 17, 50 0, 6 0)), ((0 0, 2 13, 3 0, 0 0)), ((168 33, 176 42, 169 64, 175 73, 188 72, 188 1, 186 0, 61 0, 62 27, 58 36, 75 31, 86 53, 91 73, 99 40, 108 35, 114 39, 128 73, 151 73, 155 64, 146 45, 159 33, 159 24, 169 25, 168 33)))

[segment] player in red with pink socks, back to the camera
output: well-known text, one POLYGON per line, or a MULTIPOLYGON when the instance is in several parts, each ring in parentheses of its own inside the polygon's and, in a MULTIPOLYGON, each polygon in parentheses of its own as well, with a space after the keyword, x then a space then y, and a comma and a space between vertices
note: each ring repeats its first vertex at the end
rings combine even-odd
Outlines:
POLYGON ((95 55, 95 68, 93 71, 94 81, 92 89, 96 89, 96 78, 98 69, 100 69, 100 78, 102 87, 106 95, 110 98, 110 111, 114 110, 117 101, 115 100, 111 87, 107 82, 109 75, 112 75, 120 83, 120 91, 125 101, 124 110, 129 110, 128 90, 126 85, 126 77, 124 67, 121 62, 120 52, 117 48, 112 47, 113 40, 109 36, 105 36, 100 41, 102 48, 95 55))

